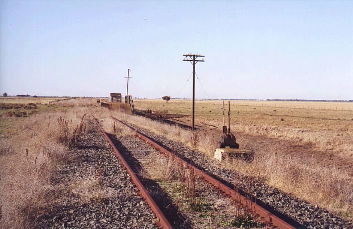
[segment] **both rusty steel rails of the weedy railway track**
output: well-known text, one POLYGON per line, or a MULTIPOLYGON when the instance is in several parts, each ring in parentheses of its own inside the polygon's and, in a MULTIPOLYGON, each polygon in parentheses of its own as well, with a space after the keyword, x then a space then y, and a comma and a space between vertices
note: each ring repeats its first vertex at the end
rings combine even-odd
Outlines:
MULTIPOLYGON (((112 117, 112 118, 117 120, 117 121, 119 121, 123 125, 125 125, 127 128, 129 128, 134 133, 134 135, 136 137, 138 137, 139 139, 141 139, 145 143, 149 144, 154 149, 158 150, 160 153, 165 154, 165 155, 169 155, 169 156, 175 155, 174 153, 170 152, 169 150, 167 150, 164 147, 162 147, 161 145, 159 145, 157 142, 153 141, 153 139, 144 136, 143 134, 141 134, 140 132, 136 131, 132 127, 126 125, 125 123, 121 122, 120 120, 118 120, 118 119, 116 119, 114 117, 112 117)), ((124 164, 126 169, 129 171, 129 173, 130 173, 130 175, 132 177, 132 180, 136 184, 138 189, 140 190, 141 195, 143 196, 144 199, 146 199, 147 203, 149 204, 151 209, 156 214, 157 218, 159 219, 160 226, 163 227, 163 228, 172 228, 171 223, 168 222, 168 219, 161 212, 160 208, 158 207, 156 202, 153 200, 153 198, 150 196, 150 194, 147 192, 146 188, 142 185, 142 182, 138 179, 138 177, 134 173, 133 169, 131 168, 131 166, 128 164, 128 162, 124 158, 124 156, 119 152, 117 146, 115 145, 116 143, 113 142, 112 137, 109 136, 105 132, 105 130, 103 129, 103 127, 101 126, 101 124, 99 123, 99 121, 96 118, 95 118, 95 121, 99 125, 100 130, 103 132, 103 134, 106 137, 106 139, 111 144, 115 154, 121 159, 122 163, 124 164)), ((137 152, 141 151, 141 150, 136 149, 136 148, 132 148, 132 149, 130 148, 129 149, 129 151, 135 151, 135 152, 136 152, 136 150, 137 150, 137 152)), ((143 151, 142 153, 145 153, 145 154, 147 153, 148 154, 148 151, 147 152, 143 151)), ((137 157, 136 157, 137 161, 139 161, 139 163, 140 162, 143 163, 143 161, 141 161, 141 160, 145 160, 144 157, 143 156, 141 158, 138 158, 138 157, 139 156, 137 155, 137 157)), ((268 209, 264 208, 263 206, 255 204, 255 200, 253 198, 249 198, 249 197, 244 196, 243 192, 234 190, 232 187, 222 183, 219 179, 216 179, 216 178, 212 177, 211 175, 205 173, 204 171, 202 171, 199 168, 195 167, 194 165, 192 165, 188 161, 186 161, 186 160, 184 160, 182 158, 180 158, 180 161, 186 167, 188 167, 189 169, 192 169, 198 176, 202 177, 206 182, 208 182, 209 184, 213 185, 215 188, 217 188, 218 190, 223 192, 225 195, 229 196, 232 200, 237 200, 237 201, 240 201, 243 205, 250 206, 251 210, 253 212, 255 212, 256 214, 260 215, 261 216, 261 220, 263 222, 265 222, 266 224, 272 224, 273 226, 275 226, 277 228, 300 228, 300 227, 301 228, 305 228, 304 226, 296 223, 293 220, 292 221, 290 219, 288 220, 288 218, 286 218, 285 216, 284 216, 285 219, 283 219, 281 217, 282 215, 280 215, 277 212, 269 211, 268 209)))

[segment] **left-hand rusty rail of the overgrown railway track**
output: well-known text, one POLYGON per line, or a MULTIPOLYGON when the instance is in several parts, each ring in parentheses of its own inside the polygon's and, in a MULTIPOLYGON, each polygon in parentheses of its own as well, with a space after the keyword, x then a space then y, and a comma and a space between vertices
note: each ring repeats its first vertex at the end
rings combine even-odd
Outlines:
MULTIPOLYGON (((92 116, 93 116, 93 114, 92 114, 92 116)), ((162 226, 162 228, 172 229, 173 227, 170 225, 169 221, 166 219, 166 217, 164 216, 162 211, 159 209, 158 205, 154 202, 153 198, 150 196, 150 194, 148 193, 146 188, 143 186, 142 182, 138 179, 138 177, 136 176, 136 174, 134 173, 134 171, 132 170, 130 165, 127 163, 125 158, 121 155, 119 150, 115 147, 113 141, 110 139, 108 134, 105 132, 104 128, 99 123, 98 119, 96 119, 94 116, 93 116, 93 119, 96 121, 100 131, 102 131, 102 133, 104 134, 104 137, 108 140, 109 144, 113 148, 115 155, 117 157, 119 157, 121 163, 124 165, 124 167, 126 168, 128 173, 130 174, 132 182, 137 186, 137 188, 140 191, 140 195, 146 200, 149 207, 152 209, 152 211, 155 213, 155 215, 159 219, 159 223, 162 226)))

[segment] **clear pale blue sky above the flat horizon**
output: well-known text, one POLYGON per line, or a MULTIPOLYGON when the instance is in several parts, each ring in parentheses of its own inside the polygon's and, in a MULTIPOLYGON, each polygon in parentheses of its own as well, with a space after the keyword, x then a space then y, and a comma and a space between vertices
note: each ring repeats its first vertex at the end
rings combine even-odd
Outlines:
POLYGON ((9 95, 353 99, 353 1, 1 1, 9 95), (183 86, 186 85, 183 89, 183 86))

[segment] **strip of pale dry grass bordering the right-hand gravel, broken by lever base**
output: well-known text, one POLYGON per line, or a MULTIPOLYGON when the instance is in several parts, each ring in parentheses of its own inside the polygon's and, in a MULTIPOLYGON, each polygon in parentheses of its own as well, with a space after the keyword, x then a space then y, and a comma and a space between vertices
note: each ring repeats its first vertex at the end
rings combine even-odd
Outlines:
MULTIPOLYGON (((129 116, 118 112, 113 113, 113 116, 163 135, 170 140, 182 142, 191 148, 195 146, 192 141, 194 135, 190 130, 140 116, 129 116)), ((218 138, 206 132, 199 134, 201 136, 198 136, 199 144, 196 148, 210 159, 213 158, 218 138)), ((252 163, 234 160, 219 163, 219 166, 245 175, 260 175, 271 186, 348 218, 353 217, 351 214, 353 211, 353 179, 335 166, 327 168, 315 162, 303 161, 299 157, 273 152, 256 152, 252 163)))

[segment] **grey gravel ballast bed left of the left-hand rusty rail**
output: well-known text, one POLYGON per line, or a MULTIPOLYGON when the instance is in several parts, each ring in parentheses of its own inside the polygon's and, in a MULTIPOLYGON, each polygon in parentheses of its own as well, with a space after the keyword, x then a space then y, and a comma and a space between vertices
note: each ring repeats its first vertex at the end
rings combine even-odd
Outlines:
MULTIPOLYGON (((157 228, 156 216, 138 194, 130 175, 115 156, 92 120, 81 146, 73 150, 74 161, 61 166, 53 185, 65 195, 51 212, 38 219, 38 228, 157 228), (82 199, 73 192, 75 182, 89 176, 99 178, 102 194, 82 199)), ((98 185, 98 184, 97 184, 98 185)), ((90 193, 88 193, 90 194, 90 193)))

